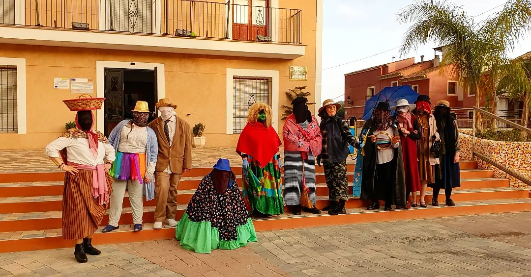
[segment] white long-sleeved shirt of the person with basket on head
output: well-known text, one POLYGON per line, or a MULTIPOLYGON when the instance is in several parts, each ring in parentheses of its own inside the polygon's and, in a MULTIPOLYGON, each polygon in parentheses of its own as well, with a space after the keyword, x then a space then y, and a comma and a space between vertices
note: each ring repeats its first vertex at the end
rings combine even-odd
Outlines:
POLYGON ((115 154, 114 148, 110 144, 104 144, 98 141, 98 156, 94 158, 92 151, 89 148, 88 139, 73 139, 60 137, 50 142, 46 146, 46 155, 52 158, 60 158, 59 151, 66 148, 66 155, 68 156, 68 162, 96 166, 104 164, 104 158, 108 162, 114 162, 115 154))

